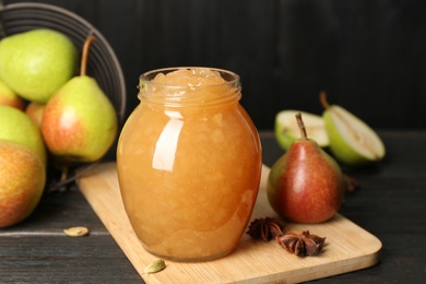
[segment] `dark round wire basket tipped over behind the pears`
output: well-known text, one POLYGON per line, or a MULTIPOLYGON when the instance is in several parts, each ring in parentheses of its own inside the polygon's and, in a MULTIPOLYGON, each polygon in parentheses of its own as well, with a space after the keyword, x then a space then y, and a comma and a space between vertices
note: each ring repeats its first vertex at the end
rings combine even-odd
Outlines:
MULTIPOLYGON (((116 108, 119 127, 125 122, 126 83, 120 63, 105 37, 81 16, 46 3, 10 3, 0 1, 0 38, 35 28, 51 28, 67 35, 78 48, 82 48, 88 35, 96 40, 91 45, 86 73, 96 79, 100 88, 116 108)), ((110 150, 111 151, 111 150, 110 150)), ((54 182, 58 188, 75 180, 95 164, 86 164, 70 174, 66 180, 54 182)), ((82 165, 80 165, 82 166, 82 165)))

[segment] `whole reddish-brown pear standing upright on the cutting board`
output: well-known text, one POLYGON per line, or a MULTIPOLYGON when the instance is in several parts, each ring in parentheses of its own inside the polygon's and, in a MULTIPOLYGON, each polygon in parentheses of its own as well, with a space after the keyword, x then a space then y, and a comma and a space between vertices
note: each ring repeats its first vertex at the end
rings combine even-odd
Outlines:
POLYGON ((271 167, 268 200, 285 220, 321 223, 341 208, 344 178, 340 166, 316 141, 306 135, 300 114, 296 115, 301 138, 271 167))

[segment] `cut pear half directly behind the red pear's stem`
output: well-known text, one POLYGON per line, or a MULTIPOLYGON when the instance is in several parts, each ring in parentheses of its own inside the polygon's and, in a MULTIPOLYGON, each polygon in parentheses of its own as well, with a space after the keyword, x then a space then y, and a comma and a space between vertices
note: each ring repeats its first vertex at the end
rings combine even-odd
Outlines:
POLYGON ((298 113, 304 117, 306 132, 309 138, 315 140, 319 146, 327 147, 329 138, 322 117, 295 109, 281 110, 275 117, 275 138, 279 145, 284 150, 288 150, 294 141, 300 139, 300 129, 297 120, 294 119, 298 113))

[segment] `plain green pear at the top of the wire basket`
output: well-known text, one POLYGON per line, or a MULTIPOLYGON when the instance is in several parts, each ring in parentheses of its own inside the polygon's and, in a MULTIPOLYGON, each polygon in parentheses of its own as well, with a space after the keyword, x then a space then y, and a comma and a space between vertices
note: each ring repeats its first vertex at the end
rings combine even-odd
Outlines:
POLYGON ((78 51, 60 32, 36 28, 0 42, 0 79, 16 94, 46 103, 75 72, 78 51))

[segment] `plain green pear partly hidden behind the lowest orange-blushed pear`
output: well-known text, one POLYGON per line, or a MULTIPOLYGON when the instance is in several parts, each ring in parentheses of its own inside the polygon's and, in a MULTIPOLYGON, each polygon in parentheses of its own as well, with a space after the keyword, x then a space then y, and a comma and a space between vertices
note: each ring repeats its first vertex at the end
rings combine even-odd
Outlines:
POLYGON ((46 146, 42 132, 24 111, 11 106, 0 106, 0 139, 27 146, 46 165, 46 146))

